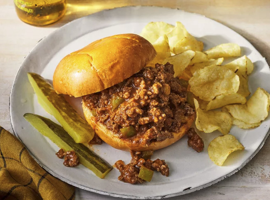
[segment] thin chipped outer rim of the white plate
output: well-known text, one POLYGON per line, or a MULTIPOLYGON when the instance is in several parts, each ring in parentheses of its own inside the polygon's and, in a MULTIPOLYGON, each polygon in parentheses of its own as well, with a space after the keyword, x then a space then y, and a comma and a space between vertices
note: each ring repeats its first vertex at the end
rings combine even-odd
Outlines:
MULTIPOLYGON (((170 8, 170 7, 163 7, 163 6, 142 6, 142 5, 138 5, 138 6, 123 6, 123 7, 115 7, 115 8, 112 8, 112 9, 104 9, 102 11, 99 11, 99 12, 96 12, 96 13, 92 13, 90 15, 97 15, 98 13, 102 13, 102 12, 108 12, 108 11, 111 11, 111 10, 116 10, 116 9, 126 9, 126 8, 140 8, 140 7, 156 7, 156 8, 165 8, 165 9, 171 9, 171 10, 179 10, 179 11, 182 11, 184 13, 191 13, 191 14, 194 14, 194 15, 199 15, 201 17, 205 17, 207 19, 210 19, 211 21, 215 21, 216 23, 219 23, 229 29, 231 29, 230 27, 224 25, 223 23, 219 22, 219 21, 216 21, 214 19, 211 19, 209 17, 206 17, 205 15, 201 15, 201 14, 198 14, 198 13, 193 13, 193 12, 188 12, 188 11, 184 11, 182 9, 179 9, 179 8, 170 8)), ((17 132, 15 131, 15 125, 13 123, 13 119, 12 119, 12 107, 11 107, 11 99, 12 99, 12 94, 13 94, 13 89, 14 89, 14 85, 15 85, 15 82, 16 82, 16 79, 17 79, 17 76, 19 74, 19 72, 21 71, 24 63, 26 62, 27 58, 29 57, 29 55, 31 54, 31 52, 35 49, 35 47, 39 44, 40 41, 42 41, 43 39, 49 37, 50 35, 53 35, 55 34, 55 32, 58 32, 60 31, 61 29, 64 29, 66 26, 72 24, 72 23, 76 23, 77 21, 81 20, 82 18, 87 18, 89 17, 90 15, 86 15, 84 17, 80 17, 78 19, 75 19, 75 20, 72 20, 72 21, 69 21, 68 23, 64 24, 63 26, 57 28, 56 30, 54 30, 53 32, 51 32, 49 35, 41 38, 37 44, 35 44, 35 46, 31 49, 31 51, 29 51, 29 53, 27 53, 27 55, 24 57, 19 69, 17 70, 16 72, 16 75, 15 75, 15 78, 13 80, 13 83, 12 83, 12 87, 11 87, 11 91, 10 91, 10 95, 9 95, 9 118, 10 118, 10 122, 11 122, 11 128, 15 134, 15 136, 19 139, 19 141, 21 141, 21 143, 23 143, 23 141, 21 140, 21 138, 19 137, 19 135, 17 134, 17 132)), ((235 32, 236 34, 240 35, 241 37, 243 37, 250 45, 252 45, 249 40, 247 40, 244 36, 242 36, 240 33, 236 32, 235 30, 231 29, 233 32, 235 32)), ((253 46, 253 45, 252 45, 253 46)), ((254 47, 254 46, 253 46, 254 47)), ((254 49, 256 49, 254 47, 254 49)), ((261 53, 256 49, 256 51, 259 53, 259 55, 261 55, 261 53)), ((261 55, 261 57, 263 57, 261 55)), ((263 57, 264 58, 264 57, 263 57)), ((267 63, 268 64, 268 63, 267 63)), ((123 195, 123 194, 117 194, 117 193, 111 193, 111 192, 106 192, 106 191, 101 191, 101 190, 97 190, 97 189, 92 189, 90 187, 85 187, 84 185, 81 185, 81 184, 78 184, 78 183, 75 183, 74 181, 70 181, 68 180, 67 178, 53 172, 52 169, 48 168, 47 166, 45 166, 43 163, 41 163, 41 161, 39 161, 38 158, 36 158, 32 153, 31 151, 29 151, 29 149, 27 148, 27 146, 25 146, 25 148, 27 149, 28 153, 31 155, 31 157, 33 157, 33 159, 43 168, 45 169, 47 172, 49 172, 51 175, 53 175, 54 177, 60 179, 61 181, 65 182, 65 183, 68 183, 70 185, 73 185, 75 187, 78 187, 80 189, 84 189, 84 190, 87 190, 87 191, 91 191, 91 192, 95 192, 95 193, 98 193, 98 194, 101 194, 101 195, 107 195, 107 196, 111 196, 111 197, 120 197, 120 198, 124 198, 124 199, 165 199, 165 198, 170 198, 170 197, 176 197, 176 196, 180 196, 180 195, 184 195, 184 194, 187 194, 187 193, 191 193, 191 192, 194 192, 194 191, 198 191, 198 190, 201 190, 201 189, 204 189, 206 187, 209 187, 215 183, 218 183, 219 181, 222 181, 223 179, 227 178, 227 177, 230 177, 231 175, 235 174, 236 172, 238 172, 240 169, 242 169, 249 161, 251 161, 251 159, 261 150, 261 148, 263 147, 263 145, 265 144, 265 141, 267 140, 267 138, 269 137, 270 135, 270 127, 265 135, 265 137, 263 138, 262 142, 260 143, 260 145, 258 146, 258 148, 256 149, 256 151, 253 152, 253 154, 245 160, 245 162, 242 163, 241 166, 239 166, 237 169, 233 170, 232 172, 222 176, 222 177, 219 177, 209 183, 205 183, 203 185, 200 185, 198 187, 194 187, 192 189, 184 189, 183 191, 181 192, 176 192, 176 193, 171 193, 171 194, 168 194, 168 195, 158 195, 158 196, 146 196, 146 197, 142 197, 142 196, 135 196, 135 195, 123 195)))

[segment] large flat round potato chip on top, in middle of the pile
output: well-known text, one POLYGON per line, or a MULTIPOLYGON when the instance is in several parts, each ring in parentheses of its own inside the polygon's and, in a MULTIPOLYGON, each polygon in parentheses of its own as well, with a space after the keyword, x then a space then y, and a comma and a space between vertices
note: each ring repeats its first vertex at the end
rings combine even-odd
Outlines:
POLYGON ((195 71, 188 81, 190 91, 205 101, 218 95, 234 94, 239 89, 239 77, 227 67, 211 65, 195 71))

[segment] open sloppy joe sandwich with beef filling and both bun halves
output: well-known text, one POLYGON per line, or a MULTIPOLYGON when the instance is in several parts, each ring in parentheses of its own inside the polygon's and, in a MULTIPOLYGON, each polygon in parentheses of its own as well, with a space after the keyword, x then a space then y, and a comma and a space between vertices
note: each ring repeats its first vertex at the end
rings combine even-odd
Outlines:
POLYGON ((82 97, 86 120, 112 147, 160 149, 186 134, 195 114, 173 65, 147 67, 155 56, 151 43, 139 35, 106 37, 64 57, 53 87, 82 97))

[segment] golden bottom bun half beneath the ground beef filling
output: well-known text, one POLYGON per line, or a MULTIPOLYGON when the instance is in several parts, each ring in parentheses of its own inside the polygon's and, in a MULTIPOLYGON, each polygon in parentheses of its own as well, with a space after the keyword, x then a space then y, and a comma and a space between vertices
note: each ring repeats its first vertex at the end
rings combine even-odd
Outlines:
MULTIPOLYGON (((190 126, 192 125, 194 121, 195 115, 190 115, 187 118, 187 121, 184 125, 182 125, 180 131, 178 133, 173 133, 174 137, 170 139, 165 139, 164 141, 156 141, 150 143, 150 145, 142 145, 142 144, 133 144, 132 140, 128 139, 121 139, 117 135, 114 135, 112 131, 107 129, 103 124, 96 122, 95 117, 92 115, 90 109, 84 104, 84 101, 82 102, 82 108, 84 110, 84 116, 86 118, 86 121, 92 126, 96 134, 107 144, 110 146, 116 148, 116 149, 121 149, 124 151, 147 151, 147 150, 157 150, 157 149, 162 149, 164 147, 167 147, 176 141, 178 141, 181 137, 183 137, 190 126)), ((138 136, 140 137, 140 136, 138 136)))

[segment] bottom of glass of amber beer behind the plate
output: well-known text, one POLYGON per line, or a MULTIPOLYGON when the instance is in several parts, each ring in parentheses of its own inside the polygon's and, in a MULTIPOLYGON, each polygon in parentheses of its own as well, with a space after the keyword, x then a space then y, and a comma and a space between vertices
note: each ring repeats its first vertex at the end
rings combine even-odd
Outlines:
POLYGON ((47 25, 65 14, 66 0, 14 0, 18 17, 31 25, 47 25))

